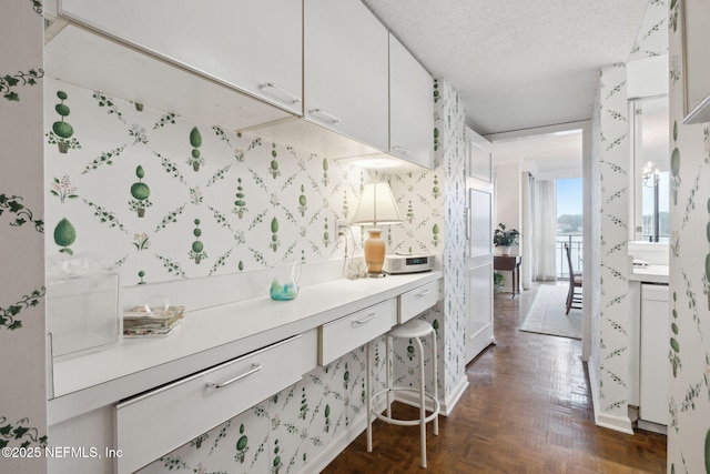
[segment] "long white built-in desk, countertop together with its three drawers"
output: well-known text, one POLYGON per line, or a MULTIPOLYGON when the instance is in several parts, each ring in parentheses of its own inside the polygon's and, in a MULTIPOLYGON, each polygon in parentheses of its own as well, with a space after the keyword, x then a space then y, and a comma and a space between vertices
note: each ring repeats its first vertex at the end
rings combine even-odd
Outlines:
MULTIPOLYGON (((256 280, 242 276, 243 285, 247 279, 256 280)), ((168 337, 125 340, 55 360, 50 366, 50 433, 59 445, 125 448, 113 468, 112 460, 78 460, 82 471, 133 472, 404 321, 402 299, 407 304, 412 299, 423 301, 417 304, 420 311, 430 307, 439 299, 442 278, 440 271, 433 271, 323 281, 303 286, 293 301, 258 296, 186 311, 181 327, 168 337), (342 324, 355 335, 331 340, 323 331, 328 324, 342 324), (217 396, 222 397, 219 403, 217 396), (158 410, 175 404, 195 416, 176 423, 170 412, 158 410), (148 414, 152 417, 146 418, 148 414), (148 430, 152 425, 159 430, 148 430), (158 433, 170 436, 161 435, 158 443, 158 433)), ((195 294, 204 290, 204 295, 222 283, 205 279, 191 284, 195 294)), ((226 284, 236 288, 232 281, 226 284)), ((267 286, 258 289, 266 293, 267 286)), ((52 462, 51 471, 77 468, 52 462)))

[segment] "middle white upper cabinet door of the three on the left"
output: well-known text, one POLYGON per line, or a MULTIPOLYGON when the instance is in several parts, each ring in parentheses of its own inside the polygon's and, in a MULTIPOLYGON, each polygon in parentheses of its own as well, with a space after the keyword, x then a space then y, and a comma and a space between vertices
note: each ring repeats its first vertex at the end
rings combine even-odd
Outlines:
POLYGON ((303 117, 388 149, 388 32, 359 0, 305 0, 303 117))

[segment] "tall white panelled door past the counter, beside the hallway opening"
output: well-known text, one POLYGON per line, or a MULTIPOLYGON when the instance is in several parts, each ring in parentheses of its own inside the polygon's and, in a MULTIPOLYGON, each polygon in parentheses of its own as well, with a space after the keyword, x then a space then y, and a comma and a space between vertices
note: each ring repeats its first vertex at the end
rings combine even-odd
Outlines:
POLYGON ((466 363, 495 342, 491 149, 466 129, 466 363))

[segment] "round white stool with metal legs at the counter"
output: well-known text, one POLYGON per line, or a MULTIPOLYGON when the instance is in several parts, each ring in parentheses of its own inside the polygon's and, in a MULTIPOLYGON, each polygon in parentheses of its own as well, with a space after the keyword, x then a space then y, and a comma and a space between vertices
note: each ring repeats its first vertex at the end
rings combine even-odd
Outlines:
MULTIPOLYGON (((422 320, 412 320, 405 324, 396 326, 387 334, 386 337, 386 376, 387 386, 377 393, 372 394, 371 373, 372 373, 372 360, 371 360, 371 344, 367 344, 367 452, 373 451, 373 416, 386 422, 402 426, 416 426, 419 425, 419 436, 422 443, 422 467, 426 467, 426 424, 434 421, 434 434, 439 434, 439 400, 437 390, 437 362, 436 362, 436 332, 432 324, 422 320), (429 394, 425 391, 425 371, 424 371, 424 346, 422 345, 422 337, 432 336, 432 366, 434 369, 434 394, 429 394), (407 339, 412 340, 416 346, 419 357, 419 390, 405 386, 393 386, 390 374, 390 359, 392 359, 392 340, 393 339, 407 339), (419 399, 419 418, 418 420, 396 420, 392 416, 392 393, 393 392, 409 392, 418 396, 419 399), (382 395, 387 395, 387 411, 386 415, 375 412, 373 405, 377 402, 377 399, 382 395), (430 402, 433 409, 432 413, 426 414, 426 401, 430 402)), ((416 405, 415 405, 416 406, 416 405)))

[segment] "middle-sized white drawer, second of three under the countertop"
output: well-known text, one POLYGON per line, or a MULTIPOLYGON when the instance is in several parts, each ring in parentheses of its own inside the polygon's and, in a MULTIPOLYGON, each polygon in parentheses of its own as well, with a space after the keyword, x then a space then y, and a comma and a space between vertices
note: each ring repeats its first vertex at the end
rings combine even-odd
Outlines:
POLYGON ((397 300, 390 299, 321 326, 318 363, 337 357, 386 333, 397 322, 397 300))

